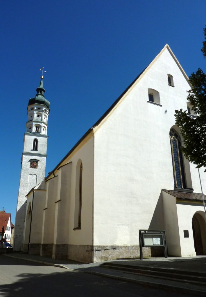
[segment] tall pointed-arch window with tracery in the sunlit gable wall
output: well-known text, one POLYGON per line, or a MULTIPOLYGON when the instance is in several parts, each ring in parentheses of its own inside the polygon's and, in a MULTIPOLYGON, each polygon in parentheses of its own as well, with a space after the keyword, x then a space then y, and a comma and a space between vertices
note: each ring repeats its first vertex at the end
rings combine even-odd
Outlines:
POLYGON ((181 147, 180 135, 171 129, 169 132, 170 145, 172 153, 172 166, 173 166, 173 176, 174 176, 174 187, 184 189, 185 186, 185 173, 181 147))

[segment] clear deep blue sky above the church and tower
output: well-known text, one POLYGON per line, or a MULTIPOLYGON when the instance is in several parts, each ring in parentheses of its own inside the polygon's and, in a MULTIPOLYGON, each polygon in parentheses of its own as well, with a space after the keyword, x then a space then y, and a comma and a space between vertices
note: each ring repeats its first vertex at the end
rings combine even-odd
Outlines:
POLYGON ((44 67, 51 102, 46 173, 166 43, 189 76, 202 68, 206 1, 1 2, 0 209, 15 222, 27 104, 44 67))

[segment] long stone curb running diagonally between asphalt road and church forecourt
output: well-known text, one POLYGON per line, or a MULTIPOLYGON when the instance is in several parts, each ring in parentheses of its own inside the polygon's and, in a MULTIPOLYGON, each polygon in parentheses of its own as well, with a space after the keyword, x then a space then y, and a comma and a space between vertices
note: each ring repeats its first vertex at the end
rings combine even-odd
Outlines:
POLYGON ((66 267, 64 265, 61 265, 61 264, 54 264, 54 263, 49 263, 49 262, 44 262, 44 261, 39 261, 39 260, 21 258, 21 257, 13 256, 13 255, 8 255, 8 254, 2 254, 2 255, 6 256, 6 257, 10 257, 10 258, 26 260, 26 261, 29 261, 29 262, 40 263, 40 264, 44 264, 44 265, 47 265, 47 266, 55 266, 55 267, 59 267, 59 268, 64 268, 64 269, 68 269, 68 270, 71 270, 71 271, 85 272, 85 273, 89 273, 89 274, 99 275, 99 276, 102 276, 102 277, 118 279, 118 280, 125 281, 125 282, 133 282, 133 283, 143 285, 143 286, 154 287, 154 288, 158 288, 158 289, 169 290, 169 291, 174 291, 174 292, 184 293, 184 294, 187 293, 187 294, 192 294, 192 295, 201 296, 201 297, 206 296, 205 291, 192 290, 192 289, 187 289, 187 288, 178 287, 178 286, 174 286, 174 285, 158 284, 158 283, 152 282, 152 281, 149 282, 149 281, 143 281, 143 280, 132 279, 132 278, 127 278, 127 277, 120 277, 120 276, 116 276, 116 275, 113 275, 113 274, 105 274, 105 273, 96 272, 96 271, 82 271, 82 270, 78 270, 78 269, 71 269, 71 268, 68 268, 68 267, 66 267))

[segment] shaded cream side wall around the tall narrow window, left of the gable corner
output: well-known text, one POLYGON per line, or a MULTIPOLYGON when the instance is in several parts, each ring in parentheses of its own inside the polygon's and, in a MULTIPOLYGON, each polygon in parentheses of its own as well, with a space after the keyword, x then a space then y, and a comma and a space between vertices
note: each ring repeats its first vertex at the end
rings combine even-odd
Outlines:
POLYGON ((56 201, 59 199, 61 201, 55 206, 55 228, 59 235, 54 236, 54 241, 56 244, 91 245, 93 242, 93 137, 89 135, 81 147, 76 149, 61 165, 65 166, 55 171, 55 174, 61 178, 57 185, 56 201), (76 227, 74 226, 74 209, 76 167, 79 159, 82 160, 83 166, 81 229, 73 230, 76 227), (71 163, 67 164, 69 162, 71 163))

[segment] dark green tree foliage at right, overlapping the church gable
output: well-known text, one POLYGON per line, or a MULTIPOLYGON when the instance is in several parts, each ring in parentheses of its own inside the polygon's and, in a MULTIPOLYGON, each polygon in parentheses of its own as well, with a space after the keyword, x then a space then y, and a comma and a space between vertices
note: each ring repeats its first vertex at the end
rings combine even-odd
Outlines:
MULTIPOLYGON (((206 26, 204 29, 206 40, 206 26)), ((206 41, 201 49, 206 57, 206 41)), ((183 137, 182 152, 185 157, 196 165, 196 168, 205 168, 206 172, 206 75, 199 68, 193 72, 189 81, 192 89, 188 91, 188 102, 193 106, 193 117, 182 109, 175 110, 175 123, 181 128, 183 137)))

